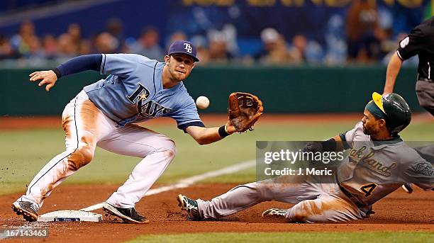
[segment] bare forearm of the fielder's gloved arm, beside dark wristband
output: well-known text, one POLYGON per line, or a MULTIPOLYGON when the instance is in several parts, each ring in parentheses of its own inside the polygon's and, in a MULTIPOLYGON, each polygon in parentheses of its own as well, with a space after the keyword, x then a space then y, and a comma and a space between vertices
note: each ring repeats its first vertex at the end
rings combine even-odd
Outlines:
MULTIPOLYGON (((191 137, 194 138, 194 140, 196 140, 197 143, 199 143, 199 145, 208 145, 223 139, 218 132, 218 129, 220 128, 201 128, 197 126, 189 126, 186 128, 186 131, 191 137)), ((233 132, 235 132, 235 128, 233 128, 232 125, 226 124, 226 133, 230 135, 233 132)))

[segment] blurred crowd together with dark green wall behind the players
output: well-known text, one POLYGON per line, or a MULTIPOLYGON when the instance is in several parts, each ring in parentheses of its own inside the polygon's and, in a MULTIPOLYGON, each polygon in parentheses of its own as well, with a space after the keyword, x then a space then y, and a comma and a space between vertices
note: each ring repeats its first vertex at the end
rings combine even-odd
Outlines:
MULTIPOLYGON (((429 16, 428 0, 4 0, 0 114, 59 115, 99 79, 67 77, 45 94, 27 81, 35 69, 101 52, 162 60, 177 39, 199 47, 186 85, 193 98, 211 99, 203 113, 225 113, 232 91, 257 94, 267 113, 359 112, 372 91, 382 91, 398 40, 429 16)), ((417 62, 404 62, 396 92, 422 111, 417 62)))

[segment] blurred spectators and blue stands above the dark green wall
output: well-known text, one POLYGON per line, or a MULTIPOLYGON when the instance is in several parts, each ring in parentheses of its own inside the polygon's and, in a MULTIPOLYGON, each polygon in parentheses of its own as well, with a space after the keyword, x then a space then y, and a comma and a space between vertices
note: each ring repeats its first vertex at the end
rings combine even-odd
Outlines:
POLYGON ((430 8, 426 0, 4 0, 0 58, 35 66, 134 52, 162 60, 181 38, 201 47, 200 64, 384 63, 430 8))

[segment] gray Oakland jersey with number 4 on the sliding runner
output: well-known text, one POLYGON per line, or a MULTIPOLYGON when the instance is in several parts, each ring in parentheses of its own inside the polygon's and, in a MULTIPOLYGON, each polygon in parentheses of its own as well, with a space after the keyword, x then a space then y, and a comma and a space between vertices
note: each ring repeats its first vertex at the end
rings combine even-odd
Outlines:
POLYGON ((350 154, 338 168, 338 181, 360 202, 372 205, 404 183, 434 186, 434 168, 401 138, 372 141, 362 123, 345 133, 350 154))

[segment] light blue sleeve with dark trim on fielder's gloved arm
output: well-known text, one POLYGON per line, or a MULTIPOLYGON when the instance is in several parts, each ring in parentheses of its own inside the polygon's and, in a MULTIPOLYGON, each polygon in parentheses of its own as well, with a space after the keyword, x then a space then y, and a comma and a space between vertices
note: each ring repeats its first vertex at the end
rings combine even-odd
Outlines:
POLYGON ((180 108, 177 108, 176 111, 169 113, 169 117, 174 118, 174 120, 177 121, 178 128, 184 130, 184 132, 186 132, 185 129, 191 125, 202 128, 205 127, 199 117, 199 113, 197 113, 196 104, 194 103, 193 98, 189 98, 189 101, 185 106, 181 106, 180 108))

